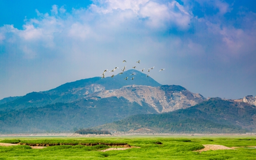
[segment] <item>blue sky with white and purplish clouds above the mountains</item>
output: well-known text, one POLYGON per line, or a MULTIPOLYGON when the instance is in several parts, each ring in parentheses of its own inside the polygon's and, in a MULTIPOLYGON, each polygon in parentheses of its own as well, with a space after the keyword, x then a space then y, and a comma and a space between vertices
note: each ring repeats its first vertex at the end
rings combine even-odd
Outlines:
POLYGON ((124 65, 154 67, 149 74, 160 84, 204 97, 255 96, 255 6, 255 0, 0 0, 0 99, 124 65))

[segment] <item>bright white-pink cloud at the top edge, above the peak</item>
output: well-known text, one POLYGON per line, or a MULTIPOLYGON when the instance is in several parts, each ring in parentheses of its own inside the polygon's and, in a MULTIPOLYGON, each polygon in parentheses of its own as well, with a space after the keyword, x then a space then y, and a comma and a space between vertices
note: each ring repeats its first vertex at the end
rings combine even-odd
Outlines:
POLYGON ((181 6, 177 1, 173 0, 171 3, 160 3, 151 0, 106 0, 104 2, 99 1, 101 6, 92 4, 90 9, 92 11, 110 14, 114 11, 121 10, 128 12, 131 10, 134 14, 121 14, 124 18, 144 18, 145 23, 149 27, 163 27, 170 24, 175 24, 175 27, 180 29, 188 28, 188 23, 192 14, 181 6), (130 17, 131 16, 131 17, 130 17))

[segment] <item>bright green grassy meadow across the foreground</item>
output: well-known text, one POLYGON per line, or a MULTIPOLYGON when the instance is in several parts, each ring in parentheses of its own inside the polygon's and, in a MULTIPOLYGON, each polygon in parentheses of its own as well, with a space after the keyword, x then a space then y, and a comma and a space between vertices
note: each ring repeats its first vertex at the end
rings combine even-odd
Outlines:
POLYGON ((256 160, 256 149, 250 147, 256 146, 256 136, 0 137, 0 143, 60 144, 44 149, 0 146, 0 160, 256 160), (99 152, 111 146, 83 143, 128 143, 137 148, 99 152), (204 144, 239 148, 195 152, 203 149, 204 144))

